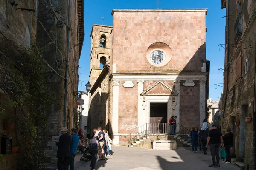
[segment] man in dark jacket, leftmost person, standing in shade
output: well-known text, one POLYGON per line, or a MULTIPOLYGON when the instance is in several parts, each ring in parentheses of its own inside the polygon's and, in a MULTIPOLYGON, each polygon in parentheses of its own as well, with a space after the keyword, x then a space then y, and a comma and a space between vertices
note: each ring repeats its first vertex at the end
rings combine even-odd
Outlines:
POLYGON ((68 170, 70 162, 70 144, 72 141, 71 135, 67 133, 67 127, 62 127, 59 141, 55 139, 57 150, 57 167, 58 170, 68 170))

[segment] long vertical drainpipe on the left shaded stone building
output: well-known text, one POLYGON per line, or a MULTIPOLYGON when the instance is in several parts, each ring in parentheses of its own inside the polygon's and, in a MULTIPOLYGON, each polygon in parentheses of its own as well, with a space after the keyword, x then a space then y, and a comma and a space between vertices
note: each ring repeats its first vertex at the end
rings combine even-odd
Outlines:
POLYGON ((68 3, 68 20, 67 20, 67 58, 66 58, 66 80, 65 80, 65 96, 64 96, 64 119, 63 126, 66 127, 66 114, 67 114, 67 76, 68 76, 68 55, 69 55, 69 39, 70 39, 70 12, 71 12, 71 0, 68 3))

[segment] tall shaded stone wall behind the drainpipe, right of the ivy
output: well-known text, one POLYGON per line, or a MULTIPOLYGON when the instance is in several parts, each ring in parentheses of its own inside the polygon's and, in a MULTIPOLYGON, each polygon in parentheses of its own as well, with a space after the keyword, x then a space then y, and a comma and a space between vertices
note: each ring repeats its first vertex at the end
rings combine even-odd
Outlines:
MULTIPOLYGON (((74 91, 78 88, 78 60, 81 51, 79 44, 79 26, 78 8, 80 1, 71 1, 70 12, 70 42, 69 42, 69 60, 68 60, 68 78, 67 78, 67 112, 66 127, 70 130, 74 126, 74 113, 77 111, 76 96, 74 91)), ((68 23, 68 1, 52 1, 52 6, 59 20, 68 23)), ((80 5, 81 6, 81 5, 80 5)), ((80 7, 81 8, 81 7, 80 7)), ((83 14, 83 13, 82 13, 83 14)), ((43 51, 44 59, 55 68, 58 74, 65 77, 66 57, 67 57, 67 25, 61 22, 57 23, 56 17, 48 0, 38 1, 38 19, 43 24, 49 37, 44 31, 41 24, 38 23, 37 41, 43 51), (54 42, 52 42, 52 40, 54 42), (58 49, 56 49, 56 46, 58 49), (57 55, 55 52, 57 50, 57 55)), ((83 31, 83 28, 81 28, 83 31)), ((51 110, 47 113, 49 116, 47 125, 47 147, 45 150, 45 162, 47 169, 56 169, 57 159, 56 153, 58 147, 54 140, 58 139, 59 130, 64 126, 64 85, 65 80, 56 74, 50 77, 51 91, 55 95, 55 102, 52 104, 51 110)))

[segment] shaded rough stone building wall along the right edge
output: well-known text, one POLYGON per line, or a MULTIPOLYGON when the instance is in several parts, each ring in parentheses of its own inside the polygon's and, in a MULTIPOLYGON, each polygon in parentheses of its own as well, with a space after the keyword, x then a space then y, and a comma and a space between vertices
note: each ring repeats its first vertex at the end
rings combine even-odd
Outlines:
MULTIPOLYGON (((256 58, 256 3, 253 0, 241 1, 241 34, 235 40, 236 28, 235 23, 239 20, 239 11, 236 1, 230 1, 230 73, 228 93, 227 71, 224 71, 224 97, 222 108, 225 105, 224 115, 221 115, 222 133, 224 134, 227 127, 232 128, 235 135, 234 147, 231 149, 233 156, 237 161, 245 160, 245 169, 255 169, 254 164, 254 147, 255 139, 253 130, 253 108, 254 106, 254 86, 255 86, 255 58, 256 58), (249 59, 248 74, 245 73, 246 57, 249 59), (250 123, 245 122, 245 117, 252 117, 250 123), (236 126, 234 122, 239 122, 236 126)), ((228 15, 228 14, 227 14, 228 15)), ((227 21, 227 20, 226 20, 227 21)), ((227 24, 226 24, 227 28, 227 24)), ((227 30, 227 29, 226 29, 227 30)), ((226 31, 227 38, 227 31, 226 31)), ((225 54, 225 64, 227 64, 227 48, 225 54)))

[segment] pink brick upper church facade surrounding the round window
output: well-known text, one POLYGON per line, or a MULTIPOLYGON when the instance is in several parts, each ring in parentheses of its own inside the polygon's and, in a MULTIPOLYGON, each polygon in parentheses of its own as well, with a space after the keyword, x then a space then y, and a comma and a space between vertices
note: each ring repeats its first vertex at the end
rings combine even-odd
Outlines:
POLYGON ((205 15, 205 11, 114 12, 113 63, 117 72, 201 71, 205 15), (146 59, 147 48, 155 42, 172 49, 172 59, 163 67, 155 67, 146 59))

